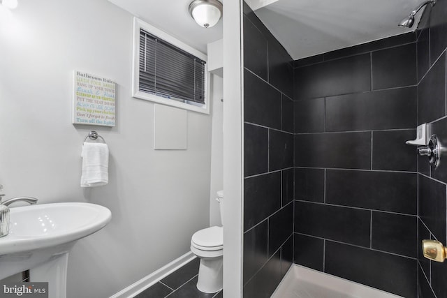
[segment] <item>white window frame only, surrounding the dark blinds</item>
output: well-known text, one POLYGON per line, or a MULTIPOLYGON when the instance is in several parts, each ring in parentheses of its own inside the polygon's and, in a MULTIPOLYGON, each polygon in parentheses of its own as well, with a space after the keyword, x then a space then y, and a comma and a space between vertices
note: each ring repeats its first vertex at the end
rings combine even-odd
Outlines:
POLYGON ((146 22, 133 17, 133 57, 132 57, 132 97, 149 100, 154 103, 160 103, 162 105, 170 105, 172 107, 179 107, 184 110, 190 110, 193 112, 199 112, 203 114, 210 114, 210 73, 208 72, 208 59, 207 55, 194 49, 193 47, 186 45, 177 38, 170 36, 168 33, 161 31, 160 29, 147 24, 146 22), (163 96, 157 96, 155 94, 149 94, 147 92, 140 91, 140 29, 151 33, 152 35, 175 45, 180 49, 193 54, 194 56, 202 59, 205 64, 205 104, 196 103, 192 100, 186 100, 186 102, 178 101, 176 99, 164 98, 163 96))

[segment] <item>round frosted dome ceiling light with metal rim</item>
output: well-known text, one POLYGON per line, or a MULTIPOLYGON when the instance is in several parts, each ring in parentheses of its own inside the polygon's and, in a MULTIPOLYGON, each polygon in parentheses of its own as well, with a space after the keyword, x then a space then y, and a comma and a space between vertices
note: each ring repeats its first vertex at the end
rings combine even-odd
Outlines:
POLYGON ((194 0, 189 4, 189 13, 200 27, 210 28, 221 19, 222 8, 217 0, 194 0))

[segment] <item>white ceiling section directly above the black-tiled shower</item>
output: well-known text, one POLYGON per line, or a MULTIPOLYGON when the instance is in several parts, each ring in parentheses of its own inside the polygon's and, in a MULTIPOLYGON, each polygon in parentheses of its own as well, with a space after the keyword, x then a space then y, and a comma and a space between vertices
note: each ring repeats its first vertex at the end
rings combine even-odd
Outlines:
POLYGON ((421 0, 278 0, 256 15, 293 59, 413 31, 397 27, 421 0))

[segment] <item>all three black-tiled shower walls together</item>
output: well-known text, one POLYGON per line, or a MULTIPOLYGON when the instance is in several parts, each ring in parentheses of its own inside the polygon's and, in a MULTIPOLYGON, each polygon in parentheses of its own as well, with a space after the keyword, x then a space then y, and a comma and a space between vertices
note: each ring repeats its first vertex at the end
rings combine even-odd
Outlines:
POLYGON ((244 6, 244 297, 269 297, 292 255, 447 297, 447 265, 420 256, 421 239, 447 241, 447 163, 434 170, 405 144, 423 122, 447 144, 446 15, 439 0, 425 29, 295 61, 293 75, 244 6))

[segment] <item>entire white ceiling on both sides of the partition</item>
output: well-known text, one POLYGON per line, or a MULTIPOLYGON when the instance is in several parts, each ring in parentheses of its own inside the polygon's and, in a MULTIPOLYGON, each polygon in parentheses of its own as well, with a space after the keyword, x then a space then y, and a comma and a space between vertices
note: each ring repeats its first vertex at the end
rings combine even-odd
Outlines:
MULTIPOLYGON (((109 0, 200 52, 222 38, 222 21, 199 27, 188 11, 192 0, 109 0), (167 3, 170 3, 169 5, 167 3)), ((220 0, 223 3, 223 0, 220 0)), ((421 0, 247 0, 293 59, 413 31, 397 24, 421 0)), ((225 5, 223 3, 223 5, 225 5)))

